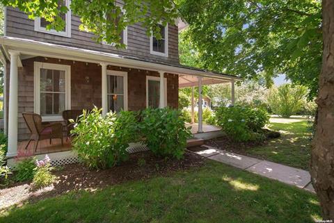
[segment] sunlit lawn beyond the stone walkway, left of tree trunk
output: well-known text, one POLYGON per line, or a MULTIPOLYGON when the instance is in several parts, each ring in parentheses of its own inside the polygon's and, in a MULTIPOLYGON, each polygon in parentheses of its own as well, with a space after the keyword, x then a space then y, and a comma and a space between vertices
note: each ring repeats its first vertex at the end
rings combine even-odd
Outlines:
POLYGON ((308 121, 304 119, 291 123, 271 122, 269 129, 283 131, 283 133, 280 138, 270 140, 264 146, 247 149, 247 153, 260 156, 264 160, 308 170, 311 156, 311 133, 308 129, 308 121))

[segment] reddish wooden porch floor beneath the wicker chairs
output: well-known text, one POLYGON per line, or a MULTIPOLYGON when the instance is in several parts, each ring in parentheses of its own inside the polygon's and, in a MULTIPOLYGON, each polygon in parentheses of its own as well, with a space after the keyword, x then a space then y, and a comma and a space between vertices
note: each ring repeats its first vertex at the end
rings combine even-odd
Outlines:
POLYGON ((37 151, 33 150, 34 147, 34 141, 31 141, 29 144, 29 147, 24 149, 26 147, 26 144, 28 144, 28 140, 18 142, 17 146, 17 155, 18 156, 33 156, 38 154, 50 154, 58 151, 68 151, 72 149, 72 145, 70 142, 70 139, 67 140, 66 138, 63 138, 64 145, 61 145, 60 139, 53 139, 51 144, 49 144, 49 140, 40 140, 38 142, 37 151))

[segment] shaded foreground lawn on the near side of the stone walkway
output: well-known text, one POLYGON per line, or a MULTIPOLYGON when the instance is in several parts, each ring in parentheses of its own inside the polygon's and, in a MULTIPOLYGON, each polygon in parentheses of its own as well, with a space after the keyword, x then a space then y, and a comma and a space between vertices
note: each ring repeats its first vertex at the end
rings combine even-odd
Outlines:
POLYGON ((316 195, 207 160, 204 167, 24 204, 0 222, 314 222, 316 195))

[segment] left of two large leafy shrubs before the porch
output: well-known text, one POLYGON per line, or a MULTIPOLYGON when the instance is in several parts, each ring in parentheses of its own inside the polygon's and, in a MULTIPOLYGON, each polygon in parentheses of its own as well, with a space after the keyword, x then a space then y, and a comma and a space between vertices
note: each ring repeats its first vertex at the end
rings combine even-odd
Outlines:
POLYGON ((137 126, 136 115, 130 111, 107 113, 102 117, 97 108, 90 113, 84 110, 72 130, 73 148, 88 167, 113 167, 128 158, 125 149, 136 140, 137 126))

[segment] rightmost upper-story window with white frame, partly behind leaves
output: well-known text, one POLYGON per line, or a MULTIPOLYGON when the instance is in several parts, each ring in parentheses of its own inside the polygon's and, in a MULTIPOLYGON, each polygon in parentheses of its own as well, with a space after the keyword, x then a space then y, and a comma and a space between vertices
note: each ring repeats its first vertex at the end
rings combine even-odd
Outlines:
POLYGON ((158 25, 160 28, 161 39, 157 39, 153 35, 150 37, 150 53, 158 56, 168 57, 168 24, 163 26, 158 25))

